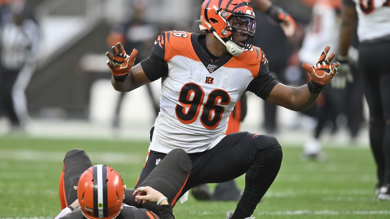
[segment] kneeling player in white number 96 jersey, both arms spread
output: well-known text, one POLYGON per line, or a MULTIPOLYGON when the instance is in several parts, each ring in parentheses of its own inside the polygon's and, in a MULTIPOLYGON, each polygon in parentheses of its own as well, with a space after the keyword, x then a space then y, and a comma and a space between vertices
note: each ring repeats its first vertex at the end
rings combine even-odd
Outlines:
POLYGON ((231 219, 252 218, 277 176, 282 148, 273 136, 225 135, 230 112, 245 91, 291 110, 307 109, 339 64, 331 64, 335 54, 327 57, 327 46, 317 64, 302 64, 311 78, 307 85, 283 85, 269 74, 261 48, 253 46, 257 18, 249 0, 206 0, 200 13, 204 34, 163 32, 152 55, 140 64, 132 66, 137 50, 127 55, 121 43, 106 53, 115 90, 129 92, 161 78, 160 113, 135 188, 157 161, 182 148, 192 168, 181 195, 195 185, 226 182, 245 173, 245 189, 231 219))

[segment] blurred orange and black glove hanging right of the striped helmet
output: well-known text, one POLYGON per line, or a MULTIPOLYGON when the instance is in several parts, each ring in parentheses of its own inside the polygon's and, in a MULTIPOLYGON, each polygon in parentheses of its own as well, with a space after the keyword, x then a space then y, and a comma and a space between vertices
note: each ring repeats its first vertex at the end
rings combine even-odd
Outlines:
POLYGON ((285 12, 281 7, 273 4, 267 9, 266 14, 280 25, 287 37, 293 36, 296 29, 296 23, 290 14, 285 12))

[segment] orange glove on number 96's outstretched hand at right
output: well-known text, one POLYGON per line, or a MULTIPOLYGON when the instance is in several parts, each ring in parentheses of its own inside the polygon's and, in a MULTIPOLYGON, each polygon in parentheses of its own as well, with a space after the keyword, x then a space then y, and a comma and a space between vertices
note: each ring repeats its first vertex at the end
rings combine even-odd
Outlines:
POLYGON ((308 65, 305 62, 302 64, 302 68, 310 76, 308 86, 311 93, 319 94, 323 87, 332 81, 332 78, 337 74, 336 68, 339 67, 340 64, 338 62, 330 64, 335 57, 335 53, 330 54, 329 57, 326 58, 329 50, 330 46, 326 46, 316 65, 308 65))

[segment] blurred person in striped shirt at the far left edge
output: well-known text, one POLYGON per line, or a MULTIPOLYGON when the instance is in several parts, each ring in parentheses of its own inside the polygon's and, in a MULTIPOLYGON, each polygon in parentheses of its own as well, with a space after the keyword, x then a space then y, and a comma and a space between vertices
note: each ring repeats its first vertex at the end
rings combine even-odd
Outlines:
POLYGON ((25 131, 25 91, 39 61, 41 32, 31 12, 26 0, 1 5, 0 113, 9 119, 11 131, 25 131))

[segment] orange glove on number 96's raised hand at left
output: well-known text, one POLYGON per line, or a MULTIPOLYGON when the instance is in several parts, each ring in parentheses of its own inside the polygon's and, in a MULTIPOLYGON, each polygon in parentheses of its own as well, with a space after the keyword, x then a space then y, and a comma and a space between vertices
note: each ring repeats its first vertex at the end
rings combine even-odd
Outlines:
POLYGON ((107 60, 106 63, 108 67, 110 67, 115 81, 123 82, 130 73, 131 67, 133 67, 135 57, 138 55, 138 50, 133 49, 131 54, 127 55, 120 42, 117 43, 117 47, 113 46, 111 48, 113 54, 110 52, 106 53, 106 56, 110 59, 107 60))

